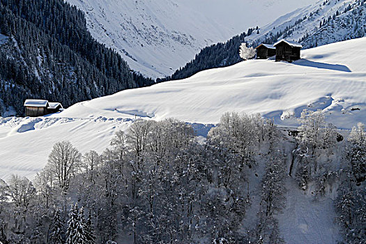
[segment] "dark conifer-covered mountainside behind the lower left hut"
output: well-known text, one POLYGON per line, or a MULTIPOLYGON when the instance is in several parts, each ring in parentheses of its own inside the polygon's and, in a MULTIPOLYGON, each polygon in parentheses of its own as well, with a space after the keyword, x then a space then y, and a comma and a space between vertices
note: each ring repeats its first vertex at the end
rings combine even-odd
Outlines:
POLYGON ((62 0, 0 0, 0 115, 22 115, 26 98, 68 107, 151 84, 92 38, 77 8, 62 0))

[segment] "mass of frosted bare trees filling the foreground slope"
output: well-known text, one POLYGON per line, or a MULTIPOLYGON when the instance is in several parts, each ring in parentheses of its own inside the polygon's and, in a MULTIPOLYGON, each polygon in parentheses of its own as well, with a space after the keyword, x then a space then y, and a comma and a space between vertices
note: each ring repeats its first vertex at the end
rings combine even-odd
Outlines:
POLYGON ((33 183, 1 181, 0 241, 284 243, 277 216, 291 174, 314 199, 337 190, 342 243, 362 243, 364 125, 342 141, 321 112, 301 123, 290 169, 283 145, 293 137, 259 115, 224 114, 206 142, 174 119, 135 121, 101 154, 58 142, 33 183))

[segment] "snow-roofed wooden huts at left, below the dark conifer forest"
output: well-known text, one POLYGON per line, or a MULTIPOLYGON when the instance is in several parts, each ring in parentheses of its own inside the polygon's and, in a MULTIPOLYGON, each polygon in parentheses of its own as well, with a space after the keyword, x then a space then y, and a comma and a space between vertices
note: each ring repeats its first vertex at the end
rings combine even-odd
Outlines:
POLYGON ((48 102, 47 100, 27 99, 24 102, 25 116, 38 117, 46 114, 54 114, 63 109, 59 102, 48 102))

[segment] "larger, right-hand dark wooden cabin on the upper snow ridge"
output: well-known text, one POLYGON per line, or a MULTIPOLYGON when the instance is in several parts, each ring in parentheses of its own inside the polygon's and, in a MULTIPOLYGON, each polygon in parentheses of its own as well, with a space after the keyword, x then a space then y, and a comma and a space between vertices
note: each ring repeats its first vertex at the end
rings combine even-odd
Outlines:
POLYGON ((300 50, 303 45, 291 40, 280 40, 273 45, 276 48, 276 61, 292 62, 300 59, 300 50))

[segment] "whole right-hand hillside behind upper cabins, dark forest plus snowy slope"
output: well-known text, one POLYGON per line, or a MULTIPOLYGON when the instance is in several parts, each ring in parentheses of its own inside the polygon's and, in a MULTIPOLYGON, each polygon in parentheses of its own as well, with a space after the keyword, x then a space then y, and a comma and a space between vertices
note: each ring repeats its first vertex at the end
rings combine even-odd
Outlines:
POLYGON ((300 8, 263 28, 251 28, 226 43, 206 47, 183 68, 167 79, 184 79, 201 70, 231 66, 241 61, 239 46, 245 42, 252 47, 260 43, 273 44, 287 38, 303 44, 305 49, 360 38, 366 29, 365 0, 326 0, 300 8))

